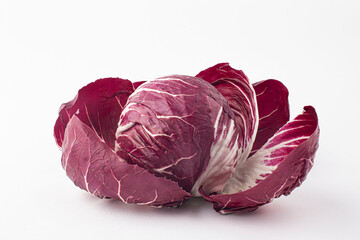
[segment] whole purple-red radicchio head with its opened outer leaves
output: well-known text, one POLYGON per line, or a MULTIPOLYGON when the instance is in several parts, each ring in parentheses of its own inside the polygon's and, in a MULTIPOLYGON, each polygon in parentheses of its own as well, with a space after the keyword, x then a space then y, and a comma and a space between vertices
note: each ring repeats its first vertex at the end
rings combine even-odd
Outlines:
POLYGON ((153 207, 204 197, 226 214, 300 186, 319 126, 311 106, 289 121, 281 82, 250 84, 220 63, 195 77, 99 79, 61 105, 54 136, 67 176, 97 197, 153 207))

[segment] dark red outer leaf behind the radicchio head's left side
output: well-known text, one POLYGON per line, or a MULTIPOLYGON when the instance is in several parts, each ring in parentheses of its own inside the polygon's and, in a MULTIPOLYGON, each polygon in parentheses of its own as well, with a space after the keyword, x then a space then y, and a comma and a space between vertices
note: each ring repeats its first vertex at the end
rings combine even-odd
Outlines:
POLYGON ((133 84, 121 78, 99 79, 81 88, 72 101, 60 107, 59 117, 54 127, 54 136, 58 146, 61 148, 65 128, 77 112, 78 118, 114 149, 119 116, 133 91, 133 84))

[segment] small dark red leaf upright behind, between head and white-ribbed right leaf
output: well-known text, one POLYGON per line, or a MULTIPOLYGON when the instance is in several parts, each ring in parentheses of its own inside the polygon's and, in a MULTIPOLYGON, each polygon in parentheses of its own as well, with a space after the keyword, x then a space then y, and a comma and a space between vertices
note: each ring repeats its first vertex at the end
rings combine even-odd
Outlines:
POLYGON ((279 81, 269 79, 253 84, 259 111, 259 128, 250 156, 289 121, 289 92, 279 81))

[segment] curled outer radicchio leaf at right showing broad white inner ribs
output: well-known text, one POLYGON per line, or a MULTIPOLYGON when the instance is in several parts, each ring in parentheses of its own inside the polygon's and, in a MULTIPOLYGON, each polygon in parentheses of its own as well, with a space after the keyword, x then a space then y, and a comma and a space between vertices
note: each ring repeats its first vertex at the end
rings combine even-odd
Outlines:
POLYGON ((288 195, 310 171, 318 140, 317 115, 313 107, 307 106, 304 113, 283 126, 241 167, 242 191, 202 194, 220 213, 255 210, 273 198, 288 195))

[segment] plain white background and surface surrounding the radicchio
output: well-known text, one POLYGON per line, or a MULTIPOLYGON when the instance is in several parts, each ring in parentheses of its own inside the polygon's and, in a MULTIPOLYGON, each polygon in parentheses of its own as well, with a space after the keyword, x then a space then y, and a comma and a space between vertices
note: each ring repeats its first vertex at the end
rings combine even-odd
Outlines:
POLYGON ((0 1, 1 239, 359 239, 359 1, 0 1), (102 77, 195 75, 219 62, 313 105, 307 180, 249 214, 100 200, 61 168, 61 103, 102 77))

